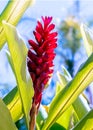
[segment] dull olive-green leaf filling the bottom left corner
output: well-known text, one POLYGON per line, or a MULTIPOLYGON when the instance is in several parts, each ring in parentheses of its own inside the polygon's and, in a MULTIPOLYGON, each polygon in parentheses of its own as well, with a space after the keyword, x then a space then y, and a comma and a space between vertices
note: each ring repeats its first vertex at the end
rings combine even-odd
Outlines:
POLYGON ((0 130, 17 130, 11 114, 4 102, 0 99, 0 130))

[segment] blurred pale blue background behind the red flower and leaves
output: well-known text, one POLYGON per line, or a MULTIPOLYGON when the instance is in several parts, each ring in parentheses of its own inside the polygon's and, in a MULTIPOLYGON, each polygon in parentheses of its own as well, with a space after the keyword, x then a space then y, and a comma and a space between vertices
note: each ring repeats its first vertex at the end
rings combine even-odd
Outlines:
MULTIPOLYGON (((0 14, 8 0, 0 0, 0 14)), ((83 40, 80 34, 80 24, 93 26, 93 0, 35 0, 22 16, 17 25, 20 35, 28 46, 28 39, 33 38, 37 20, 41 16, 52 16, 58 31, 58 47, 55 50, 54 76, 50 86, 43 92, 42 104, 49 104, 55 94, 57 71, 65 66, 72 77, 77 73, 80 65, 87 59, 83 40)), ((4 97, 16 86, 15 77, 8 63, 7 45, 0 51, 0 97, 4 97)), ((84 91, 90 104, 93 104, 92 84, 84 91)))

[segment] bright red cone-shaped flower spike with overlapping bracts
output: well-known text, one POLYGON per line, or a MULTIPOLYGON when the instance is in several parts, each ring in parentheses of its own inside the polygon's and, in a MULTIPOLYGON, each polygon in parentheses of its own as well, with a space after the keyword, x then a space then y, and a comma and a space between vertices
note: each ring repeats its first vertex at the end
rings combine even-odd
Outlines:
POLYGON ((57 32, 51 24, 52 17, 42 17, 43 23, 37 22, 33 34, 36 41, 29 40, 30 49, 28 51, 27 65, 30 72, 34 97, 33 102, 39 106, 42 98, 42 91, 53 73, 54 49, 57 47, 57 32))

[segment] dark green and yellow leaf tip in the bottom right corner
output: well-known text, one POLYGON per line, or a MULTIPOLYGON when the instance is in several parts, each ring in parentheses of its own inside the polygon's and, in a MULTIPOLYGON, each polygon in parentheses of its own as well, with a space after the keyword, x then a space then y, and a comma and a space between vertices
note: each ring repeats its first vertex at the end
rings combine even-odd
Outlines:
POLYGON ((91 110, 72 130, 92 130, 93 110, 91 110))

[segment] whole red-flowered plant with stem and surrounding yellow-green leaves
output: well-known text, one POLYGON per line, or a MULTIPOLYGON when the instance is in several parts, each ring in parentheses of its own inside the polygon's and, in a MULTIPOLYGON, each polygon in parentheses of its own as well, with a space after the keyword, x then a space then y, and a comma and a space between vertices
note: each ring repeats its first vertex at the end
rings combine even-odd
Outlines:
MULTIPOLYGON (((0 99, 0 130, 16 130, 15 123, 21 118, 25 119, 28 130, 93 129, 93 110, 82 95, 82 91, 93 82, 93 39, 90 31, 86 26, 81 26, 89 56, 87 61, 73 79, 64 67, 62 74, 57 72, 59 81, 55 84, 54 99, 48 106, 43 106, 42 91, 53 74, 57 33, 53 32, 52 17, 42 17, 42 20, 43 23, 37 22, 33 32, 35 41, 29 40, 30 49, 16 27, 2 22, 3 36, 9 48, 7 58, 17 86, 0 99)), ((4 44, 2 40, 0 46, 4 44)))

